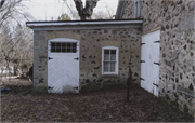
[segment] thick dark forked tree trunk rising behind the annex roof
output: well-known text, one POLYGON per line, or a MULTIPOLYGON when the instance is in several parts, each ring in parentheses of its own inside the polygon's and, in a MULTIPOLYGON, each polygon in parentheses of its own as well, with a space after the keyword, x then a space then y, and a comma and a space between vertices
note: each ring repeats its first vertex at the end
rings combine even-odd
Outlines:
POLYGON ((88 18, 91 18, 91 15, 93 14, 93 9, 96 6, 99 0, 86 0, 86 8, 83 8, 81 0, 74 0, 74 2, 76 4, 80 19, 87 20, 88 18))

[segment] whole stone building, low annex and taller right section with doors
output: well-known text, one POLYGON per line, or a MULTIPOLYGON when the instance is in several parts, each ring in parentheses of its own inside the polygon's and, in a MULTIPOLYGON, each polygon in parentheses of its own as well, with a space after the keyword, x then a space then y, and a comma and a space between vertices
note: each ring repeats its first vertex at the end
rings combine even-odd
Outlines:
POLYGON ((194 114, 194 0, 119 0, 115 20, 27 22, 34 86, 49 93, 133 82, 194 114), (131 56, 131 64, 129 63, 131 56))

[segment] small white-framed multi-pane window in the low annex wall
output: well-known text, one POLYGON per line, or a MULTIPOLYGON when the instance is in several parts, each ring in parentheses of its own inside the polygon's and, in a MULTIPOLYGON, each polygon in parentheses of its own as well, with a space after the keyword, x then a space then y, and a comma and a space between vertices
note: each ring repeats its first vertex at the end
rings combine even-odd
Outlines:
POLYGON ((118 47, 102 49, 102 73, 118 74, 118 47))

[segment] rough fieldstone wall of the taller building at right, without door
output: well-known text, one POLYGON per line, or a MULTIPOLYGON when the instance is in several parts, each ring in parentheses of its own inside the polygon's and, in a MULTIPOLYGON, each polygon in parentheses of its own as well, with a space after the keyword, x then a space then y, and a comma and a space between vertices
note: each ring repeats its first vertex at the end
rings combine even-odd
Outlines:
MULTIPOLYGON (((130 9, 133 2, 129 3, 123 18, 132 17, 129 13, 133 13, 130 9)), ((194 0, 142 0, 141 11, 142 33, 161 30, 159 96, 191 114, 195 107, 194 8, 194 0)))

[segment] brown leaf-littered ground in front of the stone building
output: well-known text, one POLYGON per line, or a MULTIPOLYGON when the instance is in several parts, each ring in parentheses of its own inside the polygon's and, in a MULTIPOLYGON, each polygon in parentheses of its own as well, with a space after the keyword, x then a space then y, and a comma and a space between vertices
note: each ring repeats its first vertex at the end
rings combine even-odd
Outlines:
POLYGON ((38 94, 28 80, 3 80, 2 122, 193 122, 194 118, 166 104, 142 88, 132 88, 130 102, 126 90, 80 94, 38 94))

